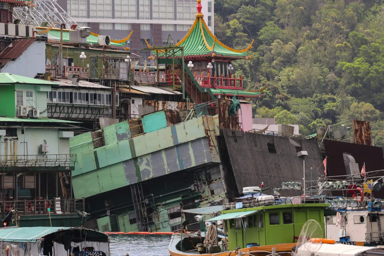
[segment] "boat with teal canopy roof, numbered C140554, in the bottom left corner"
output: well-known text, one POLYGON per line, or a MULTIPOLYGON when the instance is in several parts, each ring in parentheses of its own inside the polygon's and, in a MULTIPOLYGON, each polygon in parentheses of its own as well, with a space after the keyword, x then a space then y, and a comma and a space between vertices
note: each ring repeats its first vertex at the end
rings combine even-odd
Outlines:
POLYGON ((47 252, 53 256, 110 255, 108 235, 87 228, 0 228, 0 239, 1 256, 36 256, 47 252))

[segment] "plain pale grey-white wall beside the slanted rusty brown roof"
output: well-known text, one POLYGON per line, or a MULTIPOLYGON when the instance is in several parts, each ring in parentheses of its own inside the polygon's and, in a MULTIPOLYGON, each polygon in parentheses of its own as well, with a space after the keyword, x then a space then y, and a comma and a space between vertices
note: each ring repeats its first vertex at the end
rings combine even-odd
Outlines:
POLYGON ((17 59, 8 61, 1 73, 11 73, 34 78, 45 73, 45 42, 33 42, 17 59))

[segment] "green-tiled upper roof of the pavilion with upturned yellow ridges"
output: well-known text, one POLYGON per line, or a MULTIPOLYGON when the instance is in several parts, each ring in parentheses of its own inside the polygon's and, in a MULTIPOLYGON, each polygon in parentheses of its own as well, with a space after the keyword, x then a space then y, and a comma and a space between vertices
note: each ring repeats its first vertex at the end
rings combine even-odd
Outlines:
MULTIPOLYGON (((185 35, 176 46, 184 46, 185 57, 211 56, 215 54, 218 57, 243 59, 247 58, 247 51, 252 47, 252 44, 253 41, 251 45, 244 50, 232 49, 212 35, 203 17, 197 17, 187 35, 185 35)), ((181 55, 179 51, 175 54, 181 55)), ((159 54, 159 56, 163 55, 164 53, 159 54)))

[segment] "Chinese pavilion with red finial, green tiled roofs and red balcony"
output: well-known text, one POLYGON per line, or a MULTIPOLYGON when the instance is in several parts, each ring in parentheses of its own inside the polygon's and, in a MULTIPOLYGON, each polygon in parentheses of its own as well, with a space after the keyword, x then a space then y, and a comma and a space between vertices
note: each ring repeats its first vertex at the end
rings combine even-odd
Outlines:
MULTIPOLYGON (((195 104, 207 102, 220 96, 238 96, 240 98, 260 97, 261 91, 246 91, 243 89, 242 76, 237 77, 232 74, 233 67, 231 62, 236 59, 250 59, 247 51, 252 47, 252 43, 243 50, 236 50, 220 42, 207 27, 204 21, 204 15, 201 13, 201 0, 197 0, 197 13, 195 21, 188 31, 187 35, 175 44, 177 47, 184 46, 184 62, 185 62, 185 91, 191 96, 191 92, 199 89, 190 88, 188 86, 197 82, 200 88, 199 99, 192 97, 195 104), (189 72, 190 71, 190 72, 189 72), (189 74, 189 77, 187 75, 189 74), (192 77, 191 77, 192 76, 192 77), (192 79, 193 78, 193 79, 192 79), (195 81, 192 81, 195 80, 195 81), (211 96, 211 97, 210 97, 211 96)), ((148 47, 151 46, 147 43, 148 47)), ((178 52, 180 55, 180 51, 178 52)), ((176 53, 177 54, 177 53, 176 53)), ((179 56, 180 57, 180 56, 179 56)), ((156 57, 155 57, 156 58, 156 57)), ((163 54, 158 55, 159 62, 161 58, 169 58, 163 54)), ((172 71, 170 71, 172 73, 172 71)), ((175 73, 181 73, 175 69, 175 73)), ((265 88, 263 88, 265 89, 265 88)))

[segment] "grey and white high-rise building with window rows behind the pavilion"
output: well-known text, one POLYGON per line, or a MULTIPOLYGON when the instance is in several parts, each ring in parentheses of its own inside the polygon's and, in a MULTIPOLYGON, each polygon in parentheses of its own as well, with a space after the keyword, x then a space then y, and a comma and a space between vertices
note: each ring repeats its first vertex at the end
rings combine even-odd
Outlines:
MULTIPOLYGON (((132 52, 170 44, 184 37, 195 20, 196 0, 58 0, 59 5, 81 26, 92 32, 124 38, 131 30, 127 46, 132 52)), ((214 32, 214 0, 202 2, 202 13, 214 32)))

